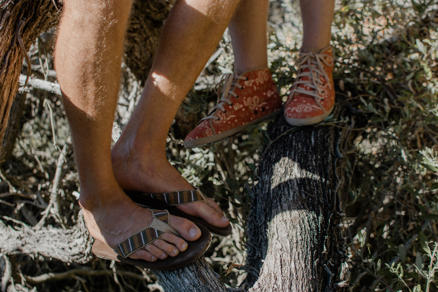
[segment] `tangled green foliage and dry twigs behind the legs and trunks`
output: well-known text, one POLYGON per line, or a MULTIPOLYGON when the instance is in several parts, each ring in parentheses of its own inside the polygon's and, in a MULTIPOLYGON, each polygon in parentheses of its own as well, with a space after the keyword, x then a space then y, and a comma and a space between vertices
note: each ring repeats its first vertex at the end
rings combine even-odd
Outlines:
MULTIPOLYGON (((342 120, 351 125, 342 179, 353 291, 438 291, 437 10, 434 0, 336 4, 334 77, 337 102, 348 110, 323 123, 338 127, 342 120)), ((286 96, 302 37, 298 4, 272 1, 270 14, 269 62, 286 96)), ((52 46, 53 32, 39 36, 29 52, 32 77, 56 82, 52 46)), ((271 137, 265 123, 209 147, 184 149, 185 135, 215 104, 212 88, 220 74, 232 72, 227 34, 218 52, 177 114, 167 155, 189 182, 218 200, 233 218, 233 234, 215 237, 206 256, 223 281, 236 286, 245 277, 247 197, 271 137)), ((114 139, 138 102, 142 82, 124 66, 114 139)), ((21 91, 26 95, 21 130, 1 167, 2 221, 17 229, 23 224, 68 228, 78 218, 80 190, 60 98, 38 88, 21 91)), ((2 279, 2 291, 161 290, 148 271, 96 258, 88 264, 66 264, 3 255, 0 271, 9 275, 2 279)))

